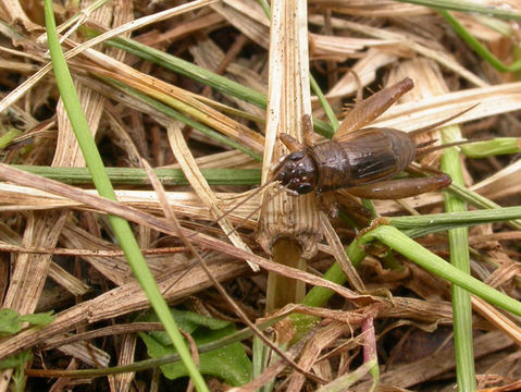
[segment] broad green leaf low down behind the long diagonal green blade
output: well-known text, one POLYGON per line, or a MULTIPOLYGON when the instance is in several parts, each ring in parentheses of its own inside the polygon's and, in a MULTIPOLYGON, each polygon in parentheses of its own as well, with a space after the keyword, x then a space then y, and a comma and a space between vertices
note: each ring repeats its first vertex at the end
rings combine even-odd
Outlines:
MULTIPOLYGON (((235 332, 233 323, 204 317, 191 311, 173 309, 172 314, 179 329, 190 331, 197 345, 211 343, 235 332), (185 329, 186 328, 186 329, 185 329)), ((149 313, 144 317, 147 321, 154 321, 156 316, 149 313)), ((140 318, 142 320, 142 318, 140 318)), ((175 350, 165 339, 164 332, 139 333, 152 358, 175 354, 175 350)), ((199 371, 202 375, 212 375, 223 379, 231 385, 240 385, 250 380, 251 362, 240 343, 233 343, 219 350, 199 355, 199 371)), ((182 363, 161 366, 164 377, 177 379, 188 376, 182 363)))

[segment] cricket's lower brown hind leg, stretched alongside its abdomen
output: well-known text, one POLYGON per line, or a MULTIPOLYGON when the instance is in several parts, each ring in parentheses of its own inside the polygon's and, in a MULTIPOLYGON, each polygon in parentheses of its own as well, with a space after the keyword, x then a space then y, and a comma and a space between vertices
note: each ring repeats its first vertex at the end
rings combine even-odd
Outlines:
POLYGON ((365 199, 400 199, 443 189, 451 183, 452 179, 448 174, 438 174, 427 177, 382 181, 370 185, 350 187, 348 192, 353 196, 365 199))

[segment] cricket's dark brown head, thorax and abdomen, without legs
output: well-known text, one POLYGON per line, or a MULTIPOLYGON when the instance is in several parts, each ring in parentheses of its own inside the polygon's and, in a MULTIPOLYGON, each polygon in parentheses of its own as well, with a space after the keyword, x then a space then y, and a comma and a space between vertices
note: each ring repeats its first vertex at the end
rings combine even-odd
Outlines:
POLYGON ((364 128, 291 152, 273 180, 299 194, 373 184, 401 172, 414 149, 405 132, 364 128))

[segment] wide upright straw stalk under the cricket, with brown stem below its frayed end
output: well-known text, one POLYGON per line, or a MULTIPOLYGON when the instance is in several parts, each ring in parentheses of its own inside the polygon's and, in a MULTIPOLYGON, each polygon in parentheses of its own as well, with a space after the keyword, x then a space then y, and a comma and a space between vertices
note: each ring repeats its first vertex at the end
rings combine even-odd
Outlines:
MULTIPOLYGON (((266 135, 262 183, 269 181, 270 168, 285 150, 278 136, 288 134, 305 139, 303 115, 310 114, 307 10, 305 1, 276 1, 272 4, 270 47, 270 79, 266 110, 266 135)), ((257 241, 265 252, 274 252, 278 262, 299 266, 300 257, 317 253, 322 234, 313 195, 293 197, 281 194, 263 196, 263 207, 257 229, 257 241), (269 200, 269 201, 268 201, 269 200), (281 241, 278 241, 281 240, 281 241), (300 256, 301 255, 301 256, 300 256)), ((303 286, 283 280, 276 284, 272 277, 268 308, 273 309, 298 302, 303 286), (276 294, 275 294, 276 293, 276 294), (283 294, 286 293, 286 294, 283 294)))

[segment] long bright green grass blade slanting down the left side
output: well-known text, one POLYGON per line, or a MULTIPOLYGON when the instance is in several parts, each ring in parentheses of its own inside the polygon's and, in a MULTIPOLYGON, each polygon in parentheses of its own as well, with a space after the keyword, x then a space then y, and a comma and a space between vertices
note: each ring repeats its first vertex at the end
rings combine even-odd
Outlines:
MULTIPOLYGON (((108 199, 115 200, 116 198, 114 191, 109 181, 107 172, 104 171, 104 167, 94 138, 89 132, 88 123, 83 113, 79 99, 76 95, 73 79, 69 72, 67 64, 63 58, 63 52, 55 33, 57 26, 51 0, 45 1, 45 16, 47 38, 52 59, 54 76, 63 100, 63 105, 82 149, 82 154, 85 157, 85 161, 87 162, 89 172, 92 175, 92 181, 98 189, 98 193, 108 199)), ((164 324, 166 333, 177 348, 179 356, 182 357, 182 360, 188 369, 190 378, 196 385, 196 389, 198 391, 208 391, 204 380, 197 370, 183 336, 175 324, 169 306, 162 297, 152 273, 148 269, 145 257, 142 256, 136 238, 134 237, 131 225, 126 220, 119 217, 109 216, 109 220, 137 281, 141 285, 144 292, 147 294, 153 309, 161 319, 161 322, 164 324)))

